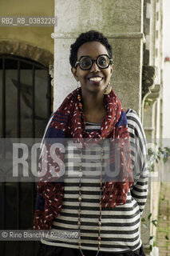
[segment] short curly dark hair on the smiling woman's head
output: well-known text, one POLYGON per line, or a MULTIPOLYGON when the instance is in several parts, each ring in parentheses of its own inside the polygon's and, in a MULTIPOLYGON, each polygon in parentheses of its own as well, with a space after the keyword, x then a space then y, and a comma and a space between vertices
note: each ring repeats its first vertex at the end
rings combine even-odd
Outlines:
POLYGON ((108 39, 105 38, 105 36, 100 32, 90 30, 88 32, 80 34, 76 41, 70 46, 69 63, 71 66, 75 66, 75 63, 77 62, 77 51, 79 47, 82 46, 85 42, 94 41, 101 42, 108 51, 109 58, 113 58, 112 46, 109 44, 108 39))

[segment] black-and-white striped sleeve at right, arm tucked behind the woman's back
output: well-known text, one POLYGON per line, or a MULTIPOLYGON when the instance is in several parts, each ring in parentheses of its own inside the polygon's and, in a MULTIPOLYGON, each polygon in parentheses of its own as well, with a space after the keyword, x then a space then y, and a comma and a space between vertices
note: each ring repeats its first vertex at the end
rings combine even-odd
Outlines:
POLYGON ((142 214, 148 195, 147 142, 140 118, 134 110, 128 111, 127 120, 132 156, 132 173, 134 178, 131 195, 138 203, 140 214, 142 214))

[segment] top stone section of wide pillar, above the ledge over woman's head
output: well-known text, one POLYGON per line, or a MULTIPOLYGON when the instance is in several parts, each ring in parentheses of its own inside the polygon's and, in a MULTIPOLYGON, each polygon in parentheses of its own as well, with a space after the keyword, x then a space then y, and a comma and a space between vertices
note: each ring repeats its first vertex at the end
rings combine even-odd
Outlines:
POLYGON ((140 32, 142 2, 141 0, 72 0, 71 2, 55 0, 57 32, 79 34, 89 28, 105 31, 105 34, 140 32))

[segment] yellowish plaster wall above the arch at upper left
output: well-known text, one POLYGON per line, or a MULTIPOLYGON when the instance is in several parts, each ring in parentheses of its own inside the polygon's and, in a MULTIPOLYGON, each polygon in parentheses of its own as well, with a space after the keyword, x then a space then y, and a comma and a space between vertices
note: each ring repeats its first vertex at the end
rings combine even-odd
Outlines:
MULTIPOLYGON (((0 2, 0 16, 53 16, 54 2, 48 0, 8 0, 0 2)), ((53 26, 0 26, 0 40, 25 42, 27 45, 38 46, 53 54, 53 26)), ((53 63, 51 63, 53 64, 53 63)))

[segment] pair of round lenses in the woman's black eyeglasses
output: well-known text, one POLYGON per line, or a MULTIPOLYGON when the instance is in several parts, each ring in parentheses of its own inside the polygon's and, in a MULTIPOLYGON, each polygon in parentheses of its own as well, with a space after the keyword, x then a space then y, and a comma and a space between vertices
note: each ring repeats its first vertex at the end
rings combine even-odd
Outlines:
MULTIPOLYGON (((93 60, 87 56, 80 59, 79 65, 83 70, 89 70, 93 66, 93 60)), ((105 69, 109 66, 109 57, 101 55, 96 60, 97 66, 101 69, 105 69)))

